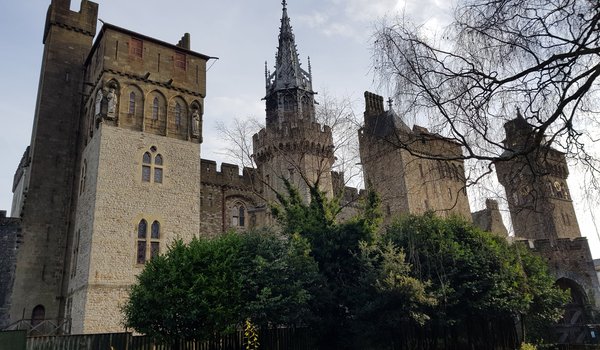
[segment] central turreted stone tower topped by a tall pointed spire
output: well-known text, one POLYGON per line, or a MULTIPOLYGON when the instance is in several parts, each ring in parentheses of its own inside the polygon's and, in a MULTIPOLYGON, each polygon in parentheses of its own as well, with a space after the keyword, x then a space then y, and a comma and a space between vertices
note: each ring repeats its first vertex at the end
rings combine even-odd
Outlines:
POLYGON ((262 177, 263 197, 272 201, 275 191, 285 194, 282 178, 295 184, 309 198, 307 185, 332 194, 331 129, 315 121, 315 92, 310 63, 302 69, 287 3, 279 31, 275 71, 265 69, 266 128, 253 136, 254 159, 262 177))

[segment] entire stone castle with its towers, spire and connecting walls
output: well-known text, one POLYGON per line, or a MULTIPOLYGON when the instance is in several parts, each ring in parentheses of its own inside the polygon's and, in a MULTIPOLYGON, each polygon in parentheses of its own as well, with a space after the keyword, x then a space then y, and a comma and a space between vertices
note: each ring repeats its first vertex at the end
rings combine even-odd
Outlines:
MULTIPOLYGON (((266 124, 253 136, 257 168, 242 175, 201 159, 213 57, 191 51, 189 34, 173 45, 105 23, 96 35, 98 5, 69 7, 52 0, 48 9, 33 136, 15 173, 13 218, 0 218, 0 326, 123 331, 119 306, 146 261, 176 238, 272 224, 268 203, 284 178, 307 198, 307 184, 318 183, 348 204, 342 217, 353 214, 360 193, 331 171, 332 131, 316 122, 310 63, 301 67, 285 1, 275 70, 265 71, 266 124)), ((507 123, 507 149, 528 144, 528 128, 521 115, 507 123)), ((358 138, 386 223, 433 210, 507 236, 495 201, 470 212, 460 145, 409 128, 369 92, 358 138)), ((598 305, 565 157, 542 151, 531 153, 539 167, 509 151, 496 164, 516 236, 548 257, 574 299, 598 305)))

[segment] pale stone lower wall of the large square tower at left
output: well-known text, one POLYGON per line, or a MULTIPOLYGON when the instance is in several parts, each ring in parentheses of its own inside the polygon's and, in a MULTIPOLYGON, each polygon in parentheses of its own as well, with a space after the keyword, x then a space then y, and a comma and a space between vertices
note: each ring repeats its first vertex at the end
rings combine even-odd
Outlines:
POLYGON ((119 305, 144 266, 136 260, 142 219, 148 223, 148 235, 151 223, 160 223, 161 252, 174 239, 189 241, 200 232, 198 144, 108 125, 101 125, 94 140, 85 152, 90 159, 85 160, 88 171, 97 172, 88 174, 96 177, 89 183, 95 183, 90 189, 95 195, 89 204, 80 205, 78 275, 69 287, 74 293, 73 324, 82 327, 74 327, 74 333, 123 330, 119 305), (163 157, 162 183, 142 181, 143 155, 153 147, 153 156, 163 157), (83 317, 82 322, 76 322, 77 317, 83 317))

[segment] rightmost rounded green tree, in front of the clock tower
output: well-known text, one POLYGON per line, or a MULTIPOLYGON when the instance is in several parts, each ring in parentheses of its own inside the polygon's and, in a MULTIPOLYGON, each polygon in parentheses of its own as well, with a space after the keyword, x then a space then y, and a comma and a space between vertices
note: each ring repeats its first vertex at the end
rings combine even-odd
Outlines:
POLYGON ((539 326, 561 316, 566 295, 539 257, 462 219, 406 216, 385 239, 405 250, 414 277, 430 281, 438 337, 469 345, 514 341, 517 317, 539 326))

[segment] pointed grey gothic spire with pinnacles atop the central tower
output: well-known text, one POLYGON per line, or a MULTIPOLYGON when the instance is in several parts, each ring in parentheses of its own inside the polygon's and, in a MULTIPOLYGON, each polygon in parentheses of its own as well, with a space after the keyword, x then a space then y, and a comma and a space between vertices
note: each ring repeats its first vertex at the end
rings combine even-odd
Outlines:
POLYGON ((301 68, 298 58, 296 41, 287 13, 287 1, 283 0, 281 5, 283 13, 279 28, 279 46, 275 57, 275 71, 267 76, 267 96, 276 91, 295 88, 312 92, 310 73, 301 68))

